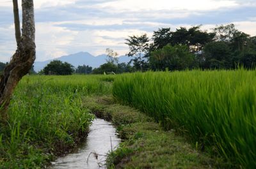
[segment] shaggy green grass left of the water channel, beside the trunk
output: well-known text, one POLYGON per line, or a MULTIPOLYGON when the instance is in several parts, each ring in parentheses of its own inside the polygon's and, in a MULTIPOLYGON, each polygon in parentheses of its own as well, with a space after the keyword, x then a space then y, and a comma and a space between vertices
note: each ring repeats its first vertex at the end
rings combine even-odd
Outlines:
POLYGON ((94 118, 84 96, 108 94, 104 76, 27 76, 12 97, 7 124, 0 124, 0 168, 44 168, 88 133, 94 118))

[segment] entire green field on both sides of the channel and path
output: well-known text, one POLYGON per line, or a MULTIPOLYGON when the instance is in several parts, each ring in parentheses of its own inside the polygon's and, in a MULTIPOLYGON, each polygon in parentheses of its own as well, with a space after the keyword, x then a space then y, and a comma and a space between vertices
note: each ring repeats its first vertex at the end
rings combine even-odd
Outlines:
MULTIPOLYGON (((113 94, 188 136, 196 149, 256 168, 256 71, 26 76, 0 124, 0 168, 44 168, 86 137, 83 98, 113 94)), ((231 167, 232 168, 232 165, 231 167)))

